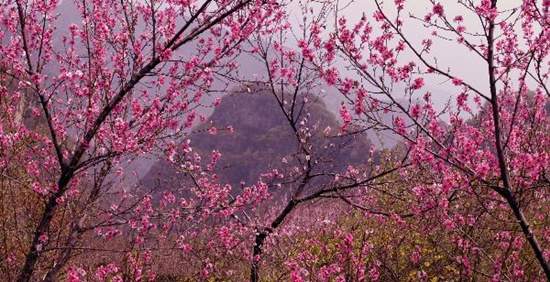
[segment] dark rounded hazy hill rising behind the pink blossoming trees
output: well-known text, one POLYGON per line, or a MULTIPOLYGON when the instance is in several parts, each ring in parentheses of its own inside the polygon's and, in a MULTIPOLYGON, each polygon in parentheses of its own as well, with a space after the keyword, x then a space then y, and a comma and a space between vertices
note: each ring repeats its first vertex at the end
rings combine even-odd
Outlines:
MULTIPOLYGON (((314 97, 311 97, 314 98, 314 97)), ((315 99, 310 99, 315 100, 315 99)), ((361 135, 353 137, 326 138, 322 131, 330 126, 331 135, 339 132, 336 117, 321 100, 307 103, 309 125, 317 127, 313 139, 313 152, 322 154, 325 146, 335 143, 343 146, 335 154, 324 159, 320 169, 345 169, 349 164, 364 164, 368 158, 370 142, 361 135), (345 144, 345 145, 344 145, 345 144)), ((222 182, 248 184, 255 182, 261 173, 281 165, 282 158, 292 159, 298 146, 292 128, 277 105, 276 99, 269 91, 236 91, 222 98, 220 105, 212 116, 195 128, 197 133, 191 135, 193 151, 208 162, 213 150, 218 150, 222 157, 218 162, 218 175, 222 182), (233 132, 219 131, 211 134, 208 128, 214 125, 225 128, 233 127, 233 132)), ((171 190, 175 185, 185 183, 173 164, 167 160, 155 163, 149 173, 142 178, 147 190, 159 188, 171 190)))

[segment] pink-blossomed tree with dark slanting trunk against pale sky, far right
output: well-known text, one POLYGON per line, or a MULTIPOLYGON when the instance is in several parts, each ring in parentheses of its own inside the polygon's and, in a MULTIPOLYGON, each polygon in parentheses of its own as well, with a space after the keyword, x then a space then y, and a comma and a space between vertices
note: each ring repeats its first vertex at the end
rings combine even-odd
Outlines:
POLYGON ((344 121, 374 125, 410 149, 413 165, 403 178, 410 179, 411 207, 417 214, 433 209, 425 216, 439 218, 454 234, 450 240, 464 251, 457 256, 463 275, 472 275, 475 256, 467 253, 473 250, 492 265, 481 272, 486 278, 517 279, 535 260, 539 268, 529 276, 550 279, 550 3, 518 1, 503 8, 497 0, 429 0, 422 15, 409 11, 417 4, 374 1, 371 16, 357 22, 338 17, 328 35, 314 25, 321 43, 300 47, 353 109, 342 111, 344 121), (411 32, 414 24, 422 32, 411 32), (445 65, 442 48, 448 44, 486 70, 483 85, 445 65), (451 93, 444 106, 433 99, 442 94, 427 90, 436 80, 451 93), (482 231, 491 225, 499 227, 482 231), (482 233, 493 246, 514 243, 485 252, 482 233))

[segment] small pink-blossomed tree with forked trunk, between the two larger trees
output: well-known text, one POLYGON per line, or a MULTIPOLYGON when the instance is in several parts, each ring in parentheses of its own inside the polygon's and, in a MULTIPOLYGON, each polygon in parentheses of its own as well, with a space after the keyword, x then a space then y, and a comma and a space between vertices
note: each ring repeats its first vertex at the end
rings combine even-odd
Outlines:
MULTIPOLYGON (((309 5, 301 8, 308 12, 309 5)), ((324 5, 314 21, 326 21, 331 11, 332 5, 324 5)), ((307 26, 308 21, 304 20, 303 24, 307 26)), ((176 270, 159 273, 163 277, 172 272, 170 277, 173 279, 258 281, 260 278, 290 278, 298 281, 297 270, 292 270, 290 276, 287 273, 288 268, 299 269, 293 267, 297 262, 293 258, 280 258, 277 252, 285 250, 292 254, 299 249, 285 241, 304 236, 300 230, 320 227, 325 232, 324 228, 330 227, 324 224, 329 214, 335 218, 345 217, 342 210, 349 208, 363 208, 367 213, 383 217, 391 215, 391 212, 365 208, 356 202, 364 204, 376 198, 373 190, 384 190, 386 178, 406 167, 406 159, 388 153, 382 161, 384 165, 376 165, 379 162, 374 159, 379 152, 374 148, 369 152, 363 150, 370 145, 364 128, 349 122, 338 124, 332 116, 327 118, 330 114, 318 110, 324 107, 321 99, 327 94, 324 94, 315 65, 309 62, 307 54, 284 45, 293 36, 286 17, 279 18, 275 26, 280 29, 269 35, 255 33, 250 44, 243 47, 248 58, 264 67, 264 72, 256 79, 234 77, 242 86, 231 95, 249 96, 250 99, 263 97, 262 109, 257 111, 269 114, 270 123, 276 119, 279 124, 261 130, 288 134, 277 140, 290 147, 285 149, 289 154, 274 160, 270 167, 262 168, 263 173, 255 176, 257 179, 252 183, 242 182, 239 187, 224 184, 220 180, 223 176, 216 175, 223 174, 223 167, 217 165, 224 161, 223 150, 215 150, 211 158, 201 158, 187 143, 182 144, 182 150, 171 159, 185 177, 179 178, 179 186, 164 192, 161 205, 153 207, 151 199, 146 200, 146 208, 139 210, 148 214, 148 220, 133 224, 137 228, 132 240, 137 245, 154 244, 155 247, 149 250, 165 260, 181 258, 170 263, 176 270), (353 156, 352 151, 360 154, 353 156), (192 210, 200 212, 189 213, 192 210), (185 270, 178 272, 177 266, 182 261, 185 270)), ((305 42, 314 39, 310 32, 300 36, 305 42)), ((223 97, 220 104, 231 99, 223 97)), ((237 124, 235 132, 219 132, 213 126, 216 124, 211 120, 199 127, 205 131, 202 133, 204 138, 211 134, 210 138, 231 140, 233 134, 245 134, 238 131, 242 127, 237 124)), ((269 153, 261 154, 271 157, 269 153)), ((331 234, 334 240, 346 237, 349 242, 351 235, 341 229, 331 234)), ((311 234, 305 236, 311 237, 311 234)), ((334 277, 344 277, 344 271, 334 269, 353 273, 353 269, 360 267, 365 256, 354 256, 350 246, 342 247, 344 249, 346 254, 335 259, 331 267, 319 270, 329 274, 319 277, 331 277, 332 272, 336 273, 334 277), (350 257, 354 258, 353 263, 346 261, 350 257)))

